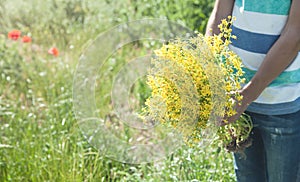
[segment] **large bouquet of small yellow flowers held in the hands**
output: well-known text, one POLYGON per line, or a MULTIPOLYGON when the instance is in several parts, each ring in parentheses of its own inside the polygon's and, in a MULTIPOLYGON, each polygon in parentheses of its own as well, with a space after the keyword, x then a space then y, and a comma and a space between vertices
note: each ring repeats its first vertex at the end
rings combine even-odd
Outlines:
POLYGON ((223 20, 218 35, 171 41, 156 50, 152 60, 147 77, 152 93, 145 113, 180 131, 191 146, 209 128, 216 128, 215 141, 229 151, 240 152, 251 144, 253 126, 247 115, 219 124, 236 113, 234 107, 242 99, 238 91, 245 82, 241 60, 228 47, 236 39, 231 35, 232 21, 223 20))

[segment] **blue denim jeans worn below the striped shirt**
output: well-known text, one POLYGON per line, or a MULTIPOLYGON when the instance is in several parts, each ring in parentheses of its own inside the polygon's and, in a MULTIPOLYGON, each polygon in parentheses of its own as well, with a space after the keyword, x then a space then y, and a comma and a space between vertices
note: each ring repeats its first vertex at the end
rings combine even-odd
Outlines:
POLYGON ((246 159, 234 154, 238 182, 300 181, 300 111, 285 115, 247 113, 254 124, 246 159))

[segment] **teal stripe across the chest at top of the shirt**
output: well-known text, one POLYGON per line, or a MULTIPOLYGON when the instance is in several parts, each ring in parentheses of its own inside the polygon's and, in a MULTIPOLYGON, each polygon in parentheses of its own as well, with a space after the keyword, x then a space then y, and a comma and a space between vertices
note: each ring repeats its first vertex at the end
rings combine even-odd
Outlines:
MULTIPOLYGON (((288 15, 291 0, 244 0, 244 10, 266 14, 288 15)), ((238 7, 243 6, 243 0, 236 0, 238 7)))

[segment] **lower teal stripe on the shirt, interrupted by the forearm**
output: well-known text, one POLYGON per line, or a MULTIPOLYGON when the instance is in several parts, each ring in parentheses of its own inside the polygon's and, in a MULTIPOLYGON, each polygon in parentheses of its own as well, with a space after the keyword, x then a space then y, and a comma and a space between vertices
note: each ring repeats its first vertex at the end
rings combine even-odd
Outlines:
MULTIPOLYGON (((249 82, 250 79, 256 73, 256 71, 250 70, 245 67, 243 67, 243 71, 244 71, 244 77, 246 78, 246 82, 249 82)), ((273 80, 273 82, 269 85, 269 87, 291 84, 291 83, 300 83, 300 69, 282 72, 275 80, 273 80)))

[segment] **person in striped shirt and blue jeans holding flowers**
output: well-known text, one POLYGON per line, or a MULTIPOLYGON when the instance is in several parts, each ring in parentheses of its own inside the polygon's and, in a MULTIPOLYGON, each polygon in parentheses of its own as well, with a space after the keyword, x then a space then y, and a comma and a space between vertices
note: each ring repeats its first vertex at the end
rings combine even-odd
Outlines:
POLYGON ((248 83, 234 122, 247 112, 255 125, 246 159, 234 154, 237 181, 300 181, 300 0, 216 0, 206 35, 235 16, 231 49, 248 83), (299 54, 299 56, 298 56, 299 54))

